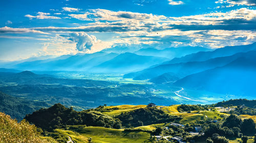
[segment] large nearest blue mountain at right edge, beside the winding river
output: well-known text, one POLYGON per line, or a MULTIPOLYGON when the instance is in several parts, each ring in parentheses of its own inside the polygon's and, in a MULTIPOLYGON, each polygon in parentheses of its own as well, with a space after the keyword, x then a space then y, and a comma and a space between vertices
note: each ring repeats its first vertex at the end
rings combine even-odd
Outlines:
POLYGON ((222 94, 255 96, 256 56, 239 58, 228 65, 188 75, 174 84, 222 94))

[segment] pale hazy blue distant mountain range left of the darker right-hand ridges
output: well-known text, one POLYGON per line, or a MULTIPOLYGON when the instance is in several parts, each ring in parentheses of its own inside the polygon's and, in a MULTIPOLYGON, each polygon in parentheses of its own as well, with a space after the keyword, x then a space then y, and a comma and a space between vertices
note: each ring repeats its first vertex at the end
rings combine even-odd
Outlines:
MULTIPOLYGON (((181 56, 199 51, 211 51, 203 47, 179 48, 142 48, 136 51, 127 48, 104 49, 95 53, 78 53, 76 55, 62 55, 57 58, 43 60, 23 60, 8 62, 3 67, 34 70, 34 71, 82 71, 128 73, 142 70, 181 56), (125 50, 126 49, 126 50, 125 50)), ((38 58, 40 59, 40 58, 38 58)))

